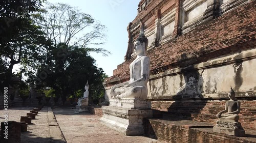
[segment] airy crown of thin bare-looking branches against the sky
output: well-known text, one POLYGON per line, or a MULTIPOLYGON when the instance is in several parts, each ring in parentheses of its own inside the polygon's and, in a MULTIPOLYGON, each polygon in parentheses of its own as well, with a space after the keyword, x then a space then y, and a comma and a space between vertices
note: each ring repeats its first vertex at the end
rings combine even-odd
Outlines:
POLYGON ((105 26, 75 7, 68 4, 47 3, 45 9, 41 9, 33 16, 46 33, 47 39, 53 41, 54 47, 63 43, 71 48, 77 46, 103 55, 110 54, 104 48, 92 48, 92 45, 104 43, 105 26))

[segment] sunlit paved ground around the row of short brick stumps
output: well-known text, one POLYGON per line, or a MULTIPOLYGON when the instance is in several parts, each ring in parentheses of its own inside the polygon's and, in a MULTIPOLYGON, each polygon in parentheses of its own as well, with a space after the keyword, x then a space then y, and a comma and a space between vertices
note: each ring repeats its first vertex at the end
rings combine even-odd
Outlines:
MULTIPOLYGON (((8 121, 20 121, 20 116, 26 116, 34 107, 10 107, 8 108, 8 121)), ((4 110, 0 110, 0 122, 4 121, 4 110)), ((22 143, 50 143, 65 142, 58 126, 49 126, 54 122, 51 108, 44 107, 38 112, 36 120, 28 125, 28 131, 22 132, 22 143), (49 122, 50 118, 50 122, 49 122)), ((55 121, 56 122, 56 121, 55 121)), ((56 124, 57 125, 57 124, 56 124)))

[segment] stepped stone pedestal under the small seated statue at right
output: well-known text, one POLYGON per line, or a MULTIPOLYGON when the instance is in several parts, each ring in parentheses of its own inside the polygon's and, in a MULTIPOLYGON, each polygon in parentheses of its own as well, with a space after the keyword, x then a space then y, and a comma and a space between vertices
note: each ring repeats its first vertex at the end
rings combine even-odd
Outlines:
POLYGON ((239 122, 218 120, 214 126, 214 132, 233 136, 245 136, 245 131, 239 122))

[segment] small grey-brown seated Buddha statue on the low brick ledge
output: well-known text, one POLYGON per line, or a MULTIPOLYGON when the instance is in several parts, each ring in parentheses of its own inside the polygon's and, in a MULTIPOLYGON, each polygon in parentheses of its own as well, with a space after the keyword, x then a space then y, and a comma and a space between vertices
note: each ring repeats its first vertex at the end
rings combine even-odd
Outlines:
POLYGON ((240 102, 235 98, 235 93, 232 90, 232 87, 230 88, 230 91, 228 93, 228 97, 230 100, 226 102, 225 110, 220 111, 217 113, 217 118, 219 120, 230 120, 234 122, 238 122, 239 120, 239 112, 240 112, 240 102), (226 112, 226 113, 224 113, 226 112))

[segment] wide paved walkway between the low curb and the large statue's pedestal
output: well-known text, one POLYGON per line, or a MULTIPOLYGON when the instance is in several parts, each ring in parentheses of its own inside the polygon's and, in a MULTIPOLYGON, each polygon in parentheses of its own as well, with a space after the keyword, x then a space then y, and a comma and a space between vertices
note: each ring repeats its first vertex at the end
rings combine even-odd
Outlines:
POLYGON ((159 142, 145 136, 125 136, 103 126, 96 115, 75 114, 74 109, 53 109, 59 127, 68 143, 159 142))

